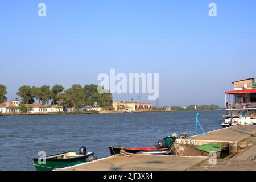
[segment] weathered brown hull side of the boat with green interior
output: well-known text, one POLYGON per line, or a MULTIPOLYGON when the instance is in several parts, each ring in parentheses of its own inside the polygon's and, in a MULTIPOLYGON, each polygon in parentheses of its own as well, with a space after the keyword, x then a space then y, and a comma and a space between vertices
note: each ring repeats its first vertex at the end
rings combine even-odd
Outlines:
MULTIPOLYGON (((215 152, 218 158, 218 156, 220 156, 221 150, 215 152)), ((177 156, 209 156, 209 151, 199 150, 196 147, 186 146, 179 143, 174 143, 171 153, 172 155, 177 156)))

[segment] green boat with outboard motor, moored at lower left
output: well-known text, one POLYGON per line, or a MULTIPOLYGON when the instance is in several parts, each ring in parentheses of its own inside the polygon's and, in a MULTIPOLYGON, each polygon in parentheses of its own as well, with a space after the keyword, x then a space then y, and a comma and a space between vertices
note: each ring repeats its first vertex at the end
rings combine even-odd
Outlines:
POLYGON ((97 156, 92 152, 85 152, 77 155, 76 152, 65 152, 62 154, 46 156, 45 164, 41 164, 42 159, 35 158, 34 166, 36 171, 53 171, 58 168, 65 168, 81 163, 92 162, 97 159, 97 156))

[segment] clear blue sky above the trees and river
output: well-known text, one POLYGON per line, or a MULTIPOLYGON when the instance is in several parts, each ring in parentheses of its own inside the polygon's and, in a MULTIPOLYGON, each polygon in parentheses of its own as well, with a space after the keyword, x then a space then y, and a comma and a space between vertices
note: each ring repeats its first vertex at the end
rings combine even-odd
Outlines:
MULTIPOLYGON (((115 68, 159 73, 159 106, 224 106, 232 81, 256 75, 254 0, 1 0, 0 20, 0 84, 9 100, 22 85, 98 84, 98 74, 115 68), (217 17, 208 15, 211 2, 217 17)), ((131 98, 138 95, 114 95, 131 98)))

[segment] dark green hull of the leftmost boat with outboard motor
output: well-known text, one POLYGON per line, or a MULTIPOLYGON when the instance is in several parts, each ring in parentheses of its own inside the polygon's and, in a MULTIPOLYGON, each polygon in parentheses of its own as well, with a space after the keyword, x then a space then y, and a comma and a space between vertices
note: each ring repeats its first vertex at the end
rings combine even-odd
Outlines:
MULTIPOLYGON (((63 153, 63 155, 67 153, 68 152, 65 152, 63 153)), ((57 155, 61 155, 61 154, 57 154, 57 155)), ((49 158, 49 157, 51 156, 47 156, 46 158, 49 158)), ((36 168, 36 171, 53 171, 58 168, 65 168, 65 167, 88 162, 88 158, 92 158, 92 157, 94 157, 94 160, 97 159, 94 153, 90 153, 88 155, 79 156, 76 158, 69 158, 69 159, 46 159, 45 164, 40 164, 39 161, 41 160, 39 160, 39 158, 35 158, 33 159, 33 161, 34 161, 34 166, 36 168)))

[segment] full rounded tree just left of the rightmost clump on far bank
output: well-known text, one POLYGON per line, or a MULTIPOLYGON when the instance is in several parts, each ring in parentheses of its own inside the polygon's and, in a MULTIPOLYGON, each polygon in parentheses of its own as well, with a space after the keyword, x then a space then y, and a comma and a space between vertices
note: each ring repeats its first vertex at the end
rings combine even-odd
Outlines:
POLYGON ((72 110, 80 108, 85 101, 85 92, 81 85, 74 84, 72 88, 65 90, 68 95, 68 101, 71 102, 72 110))

